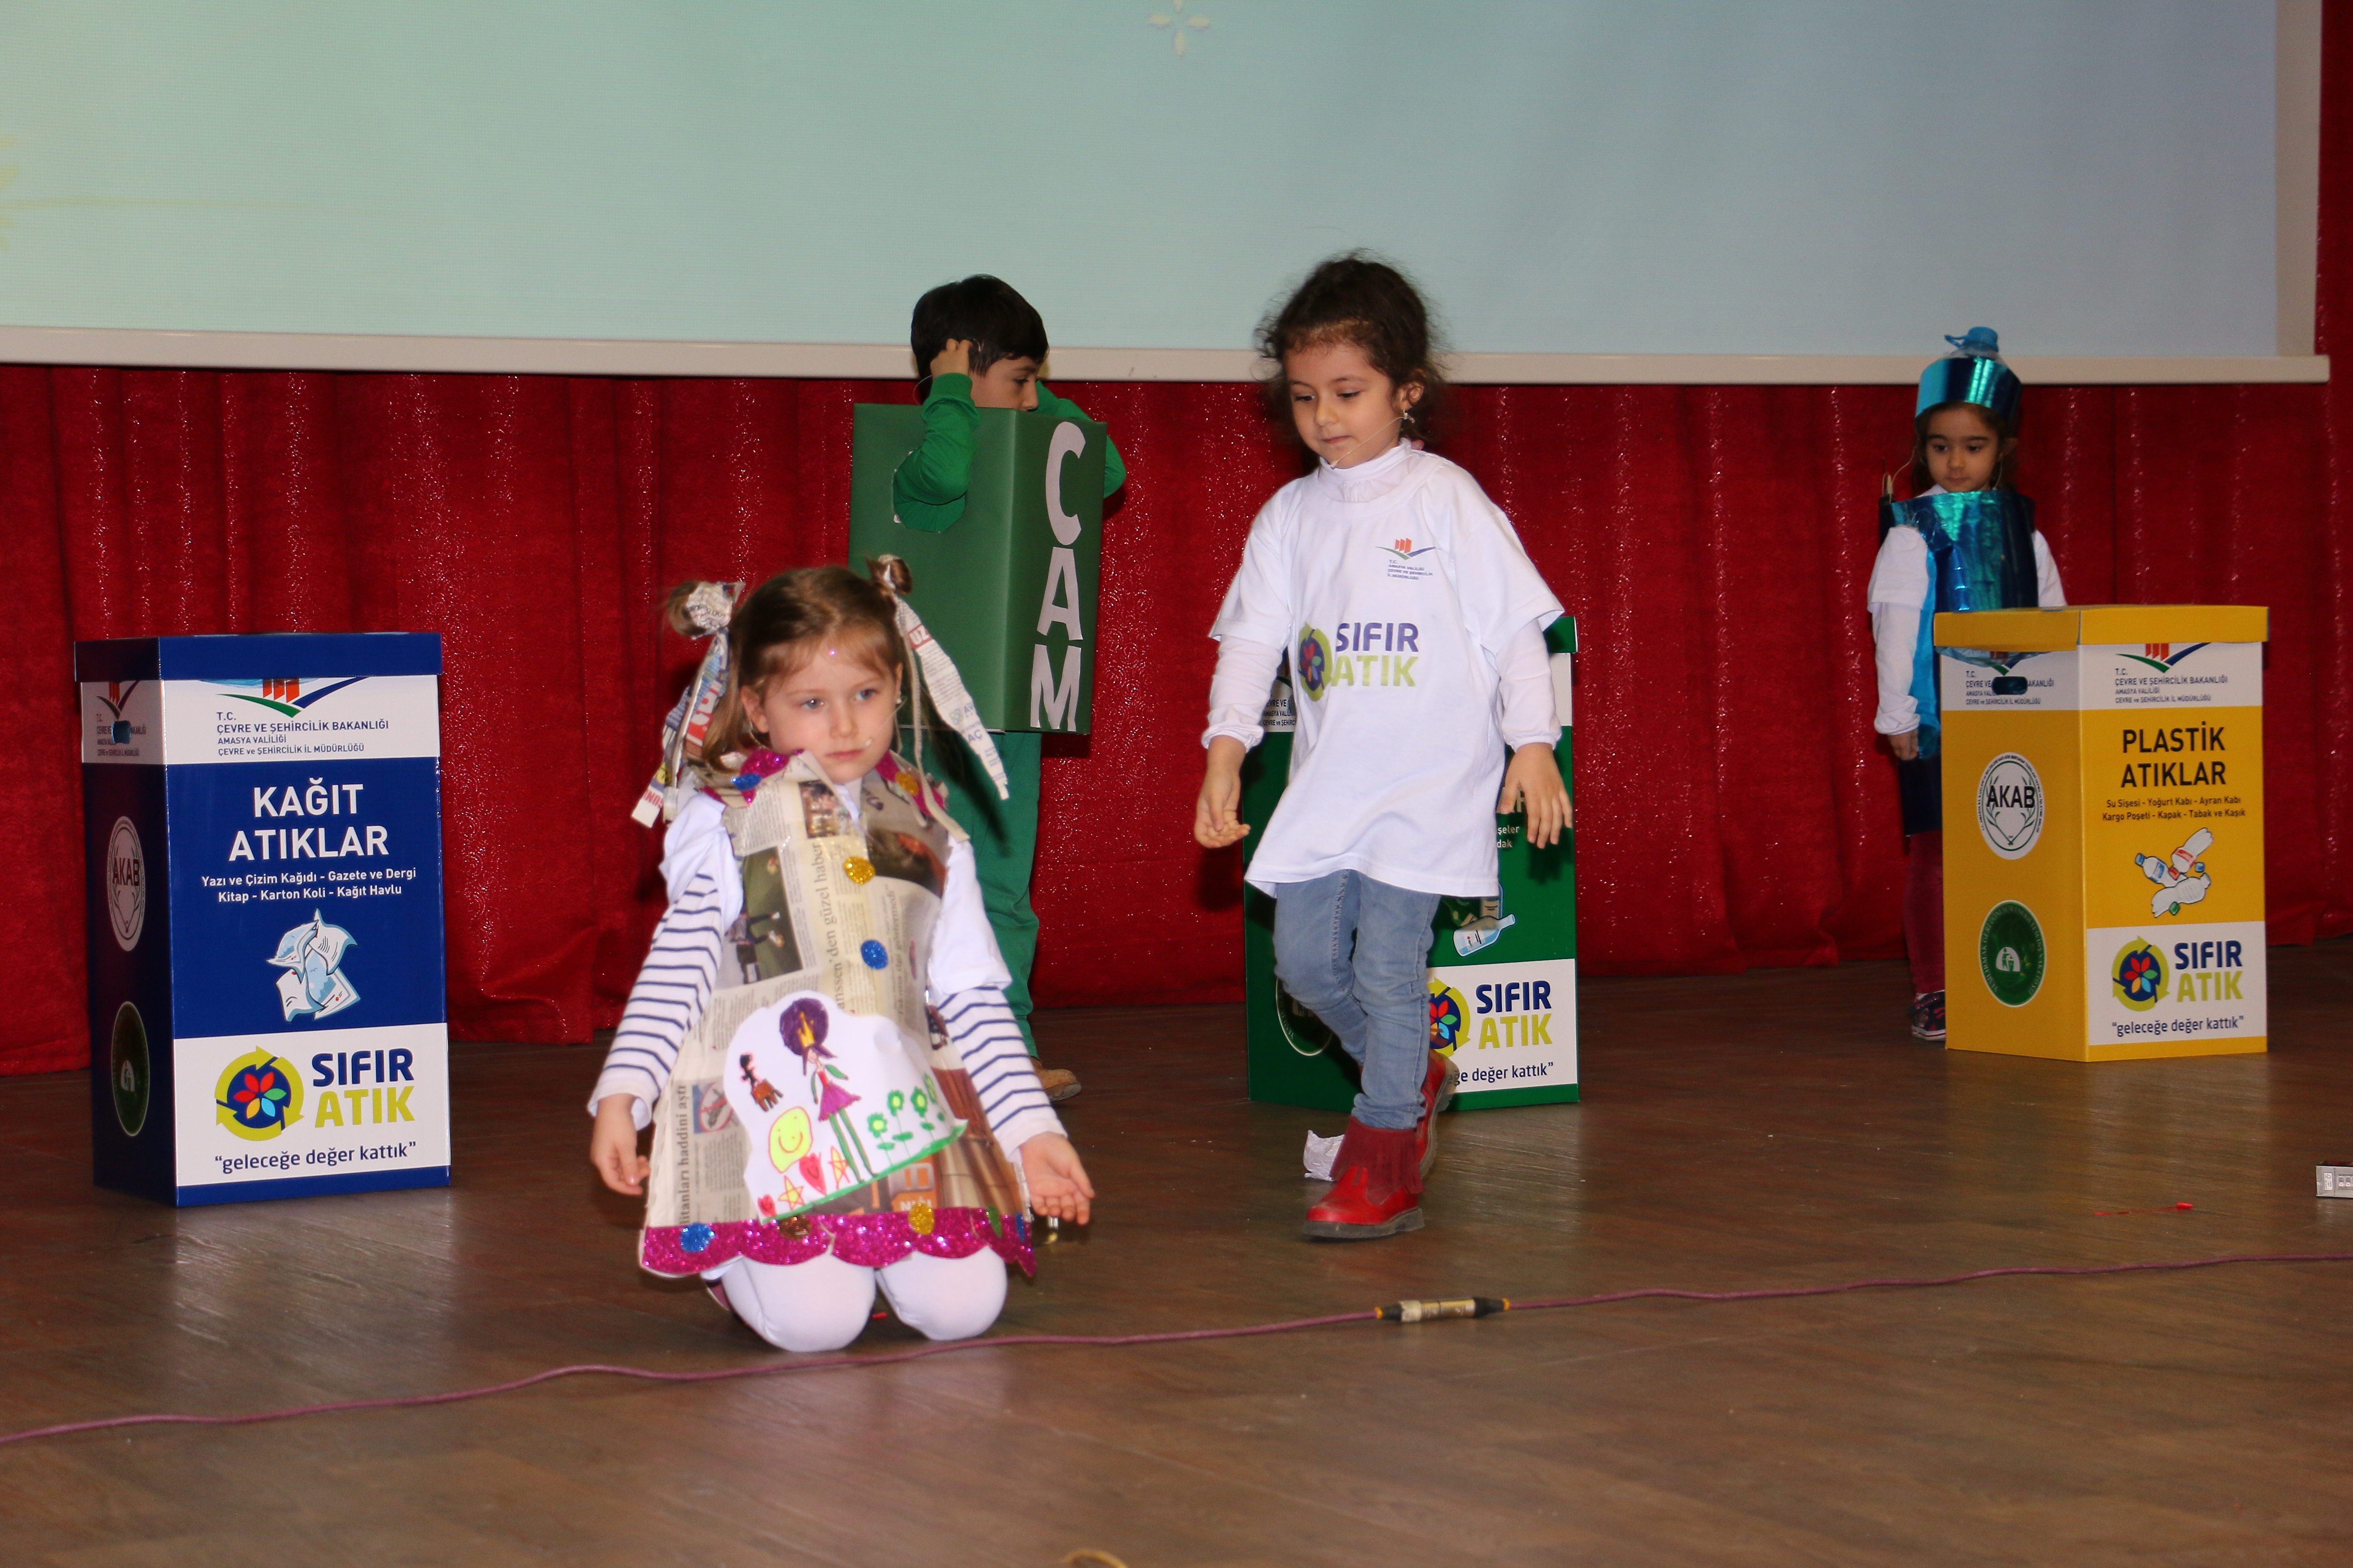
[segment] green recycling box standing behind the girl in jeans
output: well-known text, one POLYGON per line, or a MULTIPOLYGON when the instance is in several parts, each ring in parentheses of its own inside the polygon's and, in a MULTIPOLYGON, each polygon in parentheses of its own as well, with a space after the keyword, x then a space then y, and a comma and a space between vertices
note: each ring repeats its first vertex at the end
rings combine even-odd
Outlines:
MULTIPOLYGON (((1569 670, 1577 621, 1544 632, 1560 705, 1560 778, 1569 766, 1569 670)), ((1245 856, 1266 837, 1292 769, 1292 689, 1278 677, 1266 741, 1242 764, 1245 856)), ((1529 849, 1520 813, 1494 818, 1499 898, 1442 898, 1431 931, 1431 1046, 1461 1067, 1457 1107, 1577 1100, 1577 832, 1529 849)), ((1358 1072, 1339 1039, 1275 980, 1275 900, 1242 891, 1242 973, 1249 1016, 1249 1098, 1344 1112, 1358 1072)))

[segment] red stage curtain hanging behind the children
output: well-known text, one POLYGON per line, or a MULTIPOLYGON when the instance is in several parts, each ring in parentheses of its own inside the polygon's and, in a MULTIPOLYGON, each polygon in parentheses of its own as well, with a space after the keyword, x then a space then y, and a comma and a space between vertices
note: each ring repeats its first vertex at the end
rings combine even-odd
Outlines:
MULTIPOLYGON (((2353 310, 2348 45, 2332 14, 2322 348, 2353 310)), ((2021 444, 2068 597, 2271 607, 2271 926, 2297 943, 2353 931, 2348 376, 2031 388, 2021 444)), ((1106 527, 1096 733, 1047 745, 1038 997, 1231 999, 1238 865, 1191 842, 1205 628, 1289 458, 1249 388, 1059 390, 1113 425, 1129 484, 1106 527)), ((0 369, 16 595, 0 623, 0 1072, 85 1060, 78 637, 440 632, 452 1027, 586 1039, 612 1023, 659 912, 656 835, 628 806, 692 661, 656 630, 661 592, 838 559, 849 409, 908 395, 0 369)), ((1861 595, 1908 390, 1473 388, 1464 404, 1454 456, 1586 646, 1588 969, 1899 952, 1861 595)))

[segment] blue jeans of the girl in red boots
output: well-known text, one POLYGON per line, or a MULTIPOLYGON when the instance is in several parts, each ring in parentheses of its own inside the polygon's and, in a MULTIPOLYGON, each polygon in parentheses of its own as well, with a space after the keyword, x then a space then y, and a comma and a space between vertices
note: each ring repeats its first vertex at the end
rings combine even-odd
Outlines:
POLYGON ((1431 922, 1438 893, 1332 872, 1275 891, 1275 978, 1365 1070, 1355 1119, 1421 1121, 1431 1065, 1431 922))

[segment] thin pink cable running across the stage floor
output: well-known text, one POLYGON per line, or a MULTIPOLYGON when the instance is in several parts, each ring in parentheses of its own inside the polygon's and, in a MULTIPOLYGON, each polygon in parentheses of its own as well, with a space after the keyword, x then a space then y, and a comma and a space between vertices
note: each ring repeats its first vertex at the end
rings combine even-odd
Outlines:
MULTIPOLYGON (((2353 1253, 2238 1253, 2228 1258, 2184 1258, 2174 1262, 2097 1262, 2080 1267, 2064 1265, 2012 1265, 2000 1269, 1972 1269, 1967 1274, 1941 1274, 1934 1279, 1849 1279, 1835 1286, 1786 1286, 1779 1291, 1675 1291, 1649 1286, 1642 1291, 1607 1291, 1602 1295, 1558 1295, 1551 1300, 1511 1302, 1511 1312, 1551 1312, 1558 1307, 1602 1307, 1631 1300, 1687 1300, 1687 1302, 1762 1302, 1793 1300, 1800 1295, 1842 1295, 1847 1291, 1920 1291, 1929 1286, 1960 1286, 1972 1279, 2005 1279, 2012 1274, 2057 1274, 2080 1279, 2087 1274, 2172 1274, 2181 1269, 2219 1269, 2235 1262, 2353 1262, 2353 1253)), ((1282 1324, 1245 1324, 1240 1328, 1184 1328, 1172 1333, 1012 1333, 995 1340, 953 1340, 948 1345, 918 1345, 880 1356, 814 1356, 809 1361, 784 1361, 774 1366, 725 1366, 708 1373, 661 1373, 649 1366, 609 1366, 586 1361, 579 1366, 553 1366, 508 1382, 487 1382, 478 1389, 452 1389, 447 1394, 402 1394, 398 1399, 341 1399, 320 1406, 289 1406, 285 1410, 252 1410, 247 1415, 108 1415, 104 1420, 71 1420, 56 1427, 31 1427, 28 1432, 0 1434, 0 1448, 31 1443, 40 1436, 66 1436, 71 1432, 108 1432, 113 1427, 254 1427, 296 1415, 344 1415, 351 1410, 414 1410, 421 1406, 445 1406, 492 1394, 513 1394, 558 1378, 584 1378, 605 1373, 609 1378, 638 1378, 642 1382, 727 1382, 732 1378, 774 1378, 779 1373, 821 1373, 838 1366, 896 1366, 922 1361, 925 1356, 951 1356, 965 1349, 1009 1349, 1016 1345, 1089 1345, 1115 1349, 1122 1345, 1181 1345, 1186 1340, 1247 1340, 1266 1333, 1297 1333, 1301 1328, 1334 1328, 1339 1324, 1377 1324, 1374 1312, 1334 1312, 1329 1316, 1294 1316, 1282 1324)))

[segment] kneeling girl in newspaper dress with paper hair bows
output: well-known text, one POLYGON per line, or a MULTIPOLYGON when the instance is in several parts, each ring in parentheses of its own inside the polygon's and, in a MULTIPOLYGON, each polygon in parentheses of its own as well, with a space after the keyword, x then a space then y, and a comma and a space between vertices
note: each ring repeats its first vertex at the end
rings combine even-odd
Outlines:
POLYGON ((906 569, 878 574, 786 571, 732 611, 673 595, 725 642, 673 715, 671 907, 591 1100, 591 1161, 647 1194, 642 1267, 800 1352, 854 1340, 878 1284, 934 1340, 986 1331, 1005 1262, 1031 1269, 1024 1206, 1085 1222, 1094 1197, 965 832, 892 755, 911 616, 906 569))

